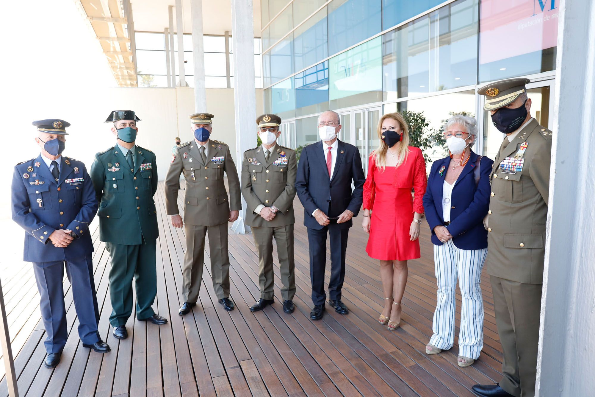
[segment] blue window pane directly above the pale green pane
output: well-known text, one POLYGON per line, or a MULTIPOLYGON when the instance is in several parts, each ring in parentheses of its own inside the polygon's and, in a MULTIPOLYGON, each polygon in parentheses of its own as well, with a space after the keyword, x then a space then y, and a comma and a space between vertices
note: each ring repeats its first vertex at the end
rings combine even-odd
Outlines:
POLYGON ((327 7, 330 55, 382 30, 380 0, 334 0, 327 7))

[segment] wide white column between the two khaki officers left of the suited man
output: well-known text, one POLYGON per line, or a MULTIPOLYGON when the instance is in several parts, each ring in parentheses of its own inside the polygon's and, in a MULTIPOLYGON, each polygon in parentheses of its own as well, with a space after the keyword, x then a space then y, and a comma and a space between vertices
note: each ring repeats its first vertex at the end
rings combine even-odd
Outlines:
MULTIPOLYGON (((233 97, 236 110, 236 165, 242 178, 243 153, 256 146, 256 89, 254 84, 254 23, 252 0, 231 0, 233 42, 233 97)), ((236 233, 250 230, 244 224, 246 201, 233 224, 236 233)))

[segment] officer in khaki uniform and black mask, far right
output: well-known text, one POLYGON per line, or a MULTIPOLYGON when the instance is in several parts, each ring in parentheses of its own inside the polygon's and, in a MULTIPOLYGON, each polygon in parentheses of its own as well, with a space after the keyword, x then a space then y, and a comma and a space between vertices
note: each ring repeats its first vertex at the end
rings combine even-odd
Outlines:
POLYGON ((478 396, 533 396, 541 309, 552 132, 531 117, 528 79, 481 88, 484 110, 505 135, 490 174, 486 270, 504 355, 499 384, 478 396))

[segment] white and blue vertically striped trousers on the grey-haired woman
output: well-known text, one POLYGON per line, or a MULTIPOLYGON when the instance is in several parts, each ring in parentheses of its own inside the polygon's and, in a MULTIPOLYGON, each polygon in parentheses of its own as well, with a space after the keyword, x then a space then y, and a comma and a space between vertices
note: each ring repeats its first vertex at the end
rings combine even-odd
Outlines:
POLYGON ((434 246, 434 268, 438 284, 438 303, 434 312, 431 345, 448 350, 455 342, 456 280, 461 290, 461 327, 459 355, 477 359, 483 348, 483 298, 481 297, 481 269, 486 262, 487 248, 458 249, 452 239, 434 246))

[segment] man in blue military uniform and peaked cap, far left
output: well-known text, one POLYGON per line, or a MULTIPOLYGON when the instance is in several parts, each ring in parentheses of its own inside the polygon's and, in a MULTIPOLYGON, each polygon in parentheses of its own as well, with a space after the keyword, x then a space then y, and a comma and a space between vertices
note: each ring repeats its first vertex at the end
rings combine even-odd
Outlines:
POLYGON ((62 156, 70 123, 59 119, 33 122, 41 147, 36 159, 14 167, 12 219, 25 229, 23 260, 33 262, 45 326, 45 366, 53 368, 68 337, 64 306, 64 263, 83 346, 99 353, 109 346, 99 337, 99 310, 93 281, 93 242, 89 224, 97 212, 95 190, 79 160, 62 156))

